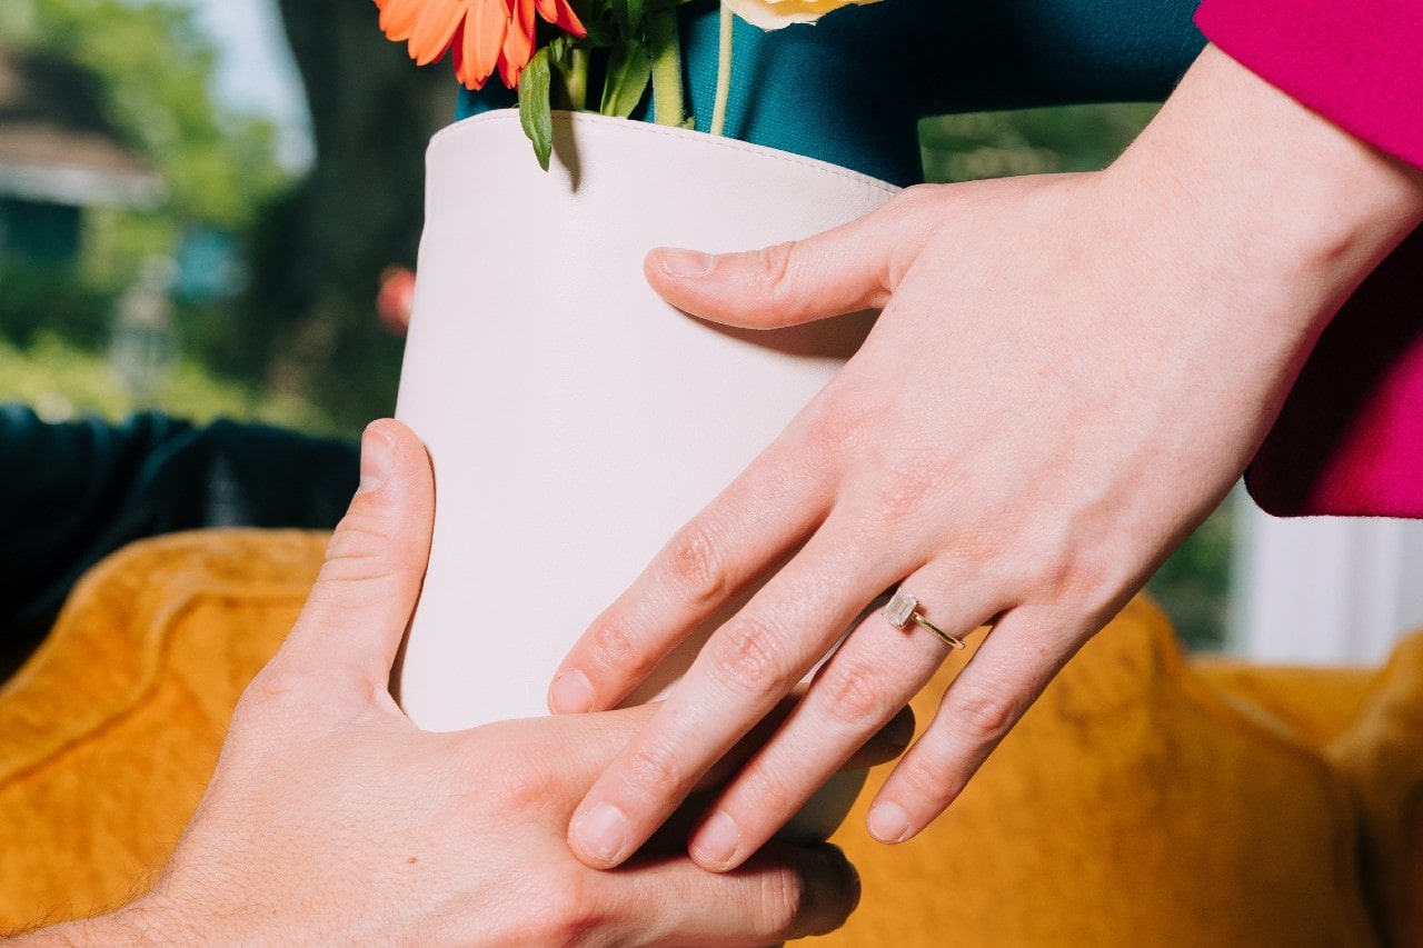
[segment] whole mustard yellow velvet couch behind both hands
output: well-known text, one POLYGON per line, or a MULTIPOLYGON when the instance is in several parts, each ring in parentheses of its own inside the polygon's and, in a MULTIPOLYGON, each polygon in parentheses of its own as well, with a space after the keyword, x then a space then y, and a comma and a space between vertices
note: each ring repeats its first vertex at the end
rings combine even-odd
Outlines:
MULTIPOLYGON (((75 589, 0 689, 0 931, 142 891, 324 542, 178 534, 75 589)), ((1185 659, 1138 599, 922 837, 868 840, 868 796, 835 840, 861 908, 818 944, 1423 945, 1423 636, 1379 670, 1185 659)))

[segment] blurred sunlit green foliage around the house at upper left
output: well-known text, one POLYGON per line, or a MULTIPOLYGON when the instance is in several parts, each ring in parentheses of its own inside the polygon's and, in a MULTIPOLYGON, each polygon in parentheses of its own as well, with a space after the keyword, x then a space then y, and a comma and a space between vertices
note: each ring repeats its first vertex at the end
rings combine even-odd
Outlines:
POLYGON ((242 300, 179 300, 174 316, 185 350, 142 399, 110 366, 115 307, 151 260, 176 253, 195 228, 248 242, 295 185, 277 164, 270 122, 209 94, 216 50, 194 11, 172 0, 3 1, 0 46, 87 70, 104 120, 154 168, 165 198, 148 211, 87 208, 77 260, 0 259, 0 397, 41 406, 50 417, 161 409, 199 421, 228 416, 333 430, 329 413, 265 390, 260 366, 226 377, 211 370, 209 337, 239 336, 249 322, 242 300))

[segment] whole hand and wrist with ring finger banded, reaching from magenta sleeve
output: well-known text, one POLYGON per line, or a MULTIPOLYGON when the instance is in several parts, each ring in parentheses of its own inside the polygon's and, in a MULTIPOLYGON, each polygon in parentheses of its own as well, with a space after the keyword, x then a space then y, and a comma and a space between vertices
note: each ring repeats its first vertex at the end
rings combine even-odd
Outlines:
MULTIPOLYGON (((573 814, 626 860, 887 589, 992 632, 869 813, 922 830, 1221 501, 1313 340, 1423 218, 1419 178, 1208 48, 1100 174, 915 188, 800 243, 659 251, 676 306, 774 327, 882 307, 861 352, 592 625, 551 690, 613 707, 766 581, 573 814), (784 565, 781 565, 784 564, 784 565)), ((949 646, 872 612, 690 837, 741 865, 949 646)))

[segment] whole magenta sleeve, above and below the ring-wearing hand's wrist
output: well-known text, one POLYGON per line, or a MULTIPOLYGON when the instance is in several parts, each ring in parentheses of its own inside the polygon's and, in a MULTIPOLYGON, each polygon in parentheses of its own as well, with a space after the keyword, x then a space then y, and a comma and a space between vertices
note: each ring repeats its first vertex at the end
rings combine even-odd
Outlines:
MULTIPOLYGON (((1345 131, 1423 167, 1423 0, 1204 0, 1197 26, 1345 131)), ((1247 471, 1279 517, 1423 518, 1423 231, 1321 336, 1247 471)))

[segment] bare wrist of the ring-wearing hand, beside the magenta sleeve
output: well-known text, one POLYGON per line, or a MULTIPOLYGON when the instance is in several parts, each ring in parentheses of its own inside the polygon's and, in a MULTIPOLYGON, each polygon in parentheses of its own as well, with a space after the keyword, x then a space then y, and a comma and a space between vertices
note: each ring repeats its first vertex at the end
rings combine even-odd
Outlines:
POLYGON ((1309 339, 1423 221, 1423 174, 1215 47, 1104 177, 1173 222, 1185 246, 1171 252, 1234 275, 1252 312, 1309 339))

